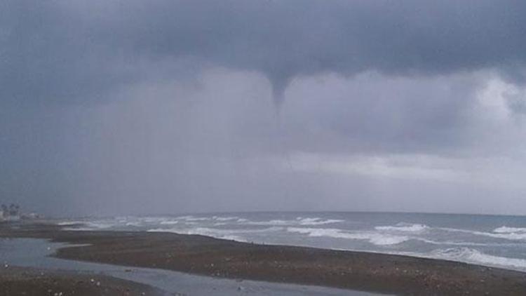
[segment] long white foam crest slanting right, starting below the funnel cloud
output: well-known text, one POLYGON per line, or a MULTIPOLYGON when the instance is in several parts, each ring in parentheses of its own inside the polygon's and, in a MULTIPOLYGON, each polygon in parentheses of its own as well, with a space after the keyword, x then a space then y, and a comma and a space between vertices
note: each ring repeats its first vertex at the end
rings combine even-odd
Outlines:
POLYGON ((287 227, 287 231, 299 234, 307 234, 312 237, 330 237, 330 238, 345 238, 358 239, 369 241, 374 245, 397 245, 404 241, 410 240, 407 236, 395 236, 391 234, 379 234, 372 231, 356 231, 349 232, 342 229, 334 228, 304 228, 304 227, 287 227))

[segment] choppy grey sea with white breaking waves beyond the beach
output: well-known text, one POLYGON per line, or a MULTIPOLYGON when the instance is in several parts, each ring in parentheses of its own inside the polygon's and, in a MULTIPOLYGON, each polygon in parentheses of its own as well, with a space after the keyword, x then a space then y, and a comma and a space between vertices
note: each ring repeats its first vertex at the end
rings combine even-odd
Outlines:
POLYGON ((522 216, 215 213, 90 218, 60 224, 78 231, 202 234, 235 241, 412 255, 526 271, 526 217, 522 216), (74 227, 78 222, 83 226, 74 227))

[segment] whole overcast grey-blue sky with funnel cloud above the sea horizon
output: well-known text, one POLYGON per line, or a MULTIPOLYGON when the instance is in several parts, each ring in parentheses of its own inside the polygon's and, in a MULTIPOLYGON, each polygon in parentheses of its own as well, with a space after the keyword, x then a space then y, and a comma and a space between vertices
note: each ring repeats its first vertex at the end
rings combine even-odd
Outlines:
POLYGON ((0 201, 526 215, 526 1, 0 1, 0 201))

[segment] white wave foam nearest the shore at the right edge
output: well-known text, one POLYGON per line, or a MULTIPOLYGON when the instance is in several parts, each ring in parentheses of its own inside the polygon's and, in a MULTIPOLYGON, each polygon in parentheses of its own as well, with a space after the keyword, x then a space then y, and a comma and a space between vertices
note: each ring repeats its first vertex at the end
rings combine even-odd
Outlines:
POLYGON ((526 269, 525 259, 488 255, 472 248, 448 248, 434 250, 431 252, 429 257, 490 265, 495 267, 507 267, 520 270, 526 269))

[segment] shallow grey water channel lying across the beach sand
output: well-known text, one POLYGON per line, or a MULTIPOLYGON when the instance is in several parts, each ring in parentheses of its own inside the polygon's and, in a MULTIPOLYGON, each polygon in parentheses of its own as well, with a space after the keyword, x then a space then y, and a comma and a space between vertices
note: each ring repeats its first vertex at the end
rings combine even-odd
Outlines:
POLYGON ((144 283, 167 292, 182 295, 350 295, 374 296, 370 292, 325 288, 311 285, 267 283, 262 281, 241 281, 209 276, 196 276, 177 271, 121 267, 112 264, 79 262, 48 257, 64 243, 50 243, 44 239, 1 238, 0 262, 4 267, 34 267, 39 269, 60 269, 89 273, 100 273, 128 281, 144 283))

